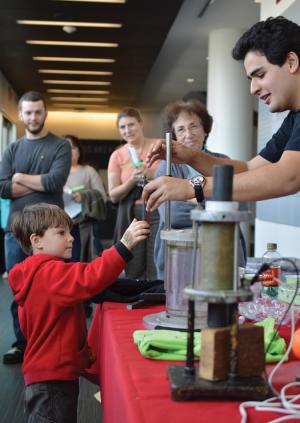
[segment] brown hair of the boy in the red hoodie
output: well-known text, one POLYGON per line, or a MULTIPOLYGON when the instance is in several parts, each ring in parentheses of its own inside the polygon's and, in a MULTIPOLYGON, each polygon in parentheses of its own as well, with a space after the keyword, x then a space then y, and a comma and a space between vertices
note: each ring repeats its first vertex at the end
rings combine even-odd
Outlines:
POLYGON ((72 219, 67 213, 54 204, 37 203, 25 206, 22 211, 13 215, 11 230, 26 254, 32 254, 30 236, 43 236, 49 228, 59 226, 72 228, 72 219))

